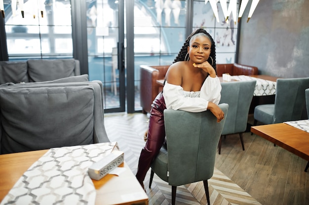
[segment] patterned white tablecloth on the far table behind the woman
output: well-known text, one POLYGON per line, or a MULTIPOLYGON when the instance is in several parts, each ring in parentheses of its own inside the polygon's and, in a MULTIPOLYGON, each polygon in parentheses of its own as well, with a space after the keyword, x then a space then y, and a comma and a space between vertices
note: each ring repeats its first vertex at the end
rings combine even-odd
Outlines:
POLYGON ((264 80, 256 77, 251 77, 248 75, 232 75, 233 80, 256 80, 256 85, 254 89, 253 96, 270 96, 276 93, 276 82, 270 80, 264 80))

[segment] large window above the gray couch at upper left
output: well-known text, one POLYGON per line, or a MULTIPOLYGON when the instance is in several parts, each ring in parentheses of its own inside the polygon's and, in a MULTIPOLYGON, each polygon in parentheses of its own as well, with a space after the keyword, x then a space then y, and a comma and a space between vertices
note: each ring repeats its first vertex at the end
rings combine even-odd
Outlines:
POLYGON ((9 60, 73 57, 70 1, 44 2, 44 5, 38 5, 37 1, 26 1, 24 18, 21 5, 17 4, 16 11, 12 11, 10 3, 4 4, 9 60))

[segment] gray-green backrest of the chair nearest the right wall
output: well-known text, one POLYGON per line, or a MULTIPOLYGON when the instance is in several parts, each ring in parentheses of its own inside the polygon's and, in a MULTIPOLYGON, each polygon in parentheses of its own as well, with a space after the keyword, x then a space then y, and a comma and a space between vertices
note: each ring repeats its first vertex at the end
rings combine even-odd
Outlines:
POLYGON ((301 120, 309 77, 277 79, 272 123, 301 120))

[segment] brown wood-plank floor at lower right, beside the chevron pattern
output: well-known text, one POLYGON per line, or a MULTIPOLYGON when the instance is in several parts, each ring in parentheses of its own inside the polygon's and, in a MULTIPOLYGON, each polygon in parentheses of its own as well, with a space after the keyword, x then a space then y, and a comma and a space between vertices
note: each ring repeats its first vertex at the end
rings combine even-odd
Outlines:
POLYGON ((242 151, 239 137, 228 136, 216 168, 262 205, 309 205, 307 161, 250 133, 245 133, 244 143, 242 151))

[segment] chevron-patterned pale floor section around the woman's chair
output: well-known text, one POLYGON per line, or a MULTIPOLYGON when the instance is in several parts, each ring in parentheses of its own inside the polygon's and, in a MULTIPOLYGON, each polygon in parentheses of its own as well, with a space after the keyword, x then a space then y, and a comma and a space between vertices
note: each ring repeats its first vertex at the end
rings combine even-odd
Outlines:
MULTIPOLYGON (((148 127, 145 114, 105 114, 105 128, 111 141, 117 141, 124 160, 133 173, 136 173, 138 158, 145 141, 144 132, 148 127)), ((171 204, 171 186, 154 175, 151 189, 150 171, 144 184, 149 197, 149 205, 171 204)), ((214 175, 208 180, 210 203, 212 205, 261 205, 230 178, 215 168, 214 175)), ((206 205, 203 182, 196 182, 177 187, 177 205, 206 205)))

